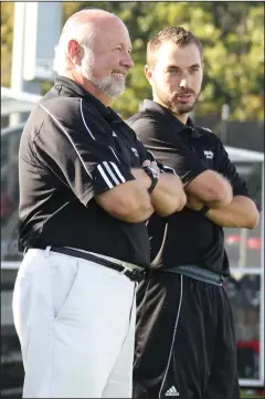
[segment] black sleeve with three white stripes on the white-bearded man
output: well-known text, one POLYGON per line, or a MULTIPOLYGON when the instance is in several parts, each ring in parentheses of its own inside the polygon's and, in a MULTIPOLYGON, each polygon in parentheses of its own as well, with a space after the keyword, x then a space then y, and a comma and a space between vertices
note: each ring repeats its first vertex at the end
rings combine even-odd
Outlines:
POLYGON ((82 99, 72 101, 74 106, 66 107, 63 116, 56 107, 40 105, 44 122, 34 149, 42 165, 86 206, 94 196, 135 178, 115 150, 106 122, 100 124, 82 99))

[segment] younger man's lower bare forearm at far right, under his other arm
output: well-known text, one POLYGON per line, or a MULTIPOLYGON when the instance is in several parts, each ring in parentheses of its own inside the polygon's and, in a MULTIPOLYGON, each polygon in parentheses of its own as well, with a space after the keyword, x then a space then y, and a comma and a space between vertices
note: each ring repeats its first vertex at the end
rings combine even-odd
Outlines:
POLYGON ((242 196, 235 196, 225 207, 210 209, 205 217, 218 225, 224 228, 254 229, 259 216, 255 203, 242 196))

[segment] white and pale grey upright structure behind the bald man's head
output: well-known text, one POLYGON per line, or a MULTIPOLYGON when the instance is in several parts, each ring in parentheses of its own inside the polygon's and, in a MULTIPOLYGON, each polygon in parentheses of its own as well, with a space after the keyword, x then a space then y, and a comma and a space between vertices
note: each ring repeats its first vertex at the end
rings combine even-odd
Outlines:
POLYGON ((53 80, 54 46, 62 30, 62 3, 15 2, 11 88, 40 94, 41 81, 53 80))

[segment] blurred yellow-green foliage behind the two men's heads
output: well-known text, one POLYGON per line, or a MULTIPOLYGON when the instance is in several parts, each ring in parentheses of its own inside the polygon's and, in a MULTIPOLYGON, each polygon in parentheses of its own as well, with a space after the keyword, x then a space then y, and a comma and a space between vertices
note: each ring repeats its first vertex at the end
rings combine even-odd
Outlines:
MULTIPOLYGON (((263 2, 62 2, 63 22, 84 8, 100 8, 119 15, 130 32, 132 69, 126 93, 114 107, 126 118, 138 111, 151 91, 144 75, 146 44, 159 30, 182 25, 204 45, 204 81, 197 115, 220 115, 230 104, 234 119, 264 118, 263 2)), ((13 3, 1 3, 2 84, 11 65, 13 3)), ((49 85, 45 85, 47 88, 49 85)))

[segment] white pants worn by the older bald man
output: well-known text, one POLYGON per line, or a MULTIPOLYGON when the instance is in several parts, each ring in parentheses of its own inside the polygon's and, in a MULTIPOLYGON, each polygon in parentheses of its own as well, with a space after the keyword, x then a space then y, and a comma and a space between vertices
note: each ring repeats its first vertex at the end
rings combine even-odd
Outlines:
POLYGON ((135 288, 94 262, 29 250, 13 293, 23 398, 131 398, 135 288))

